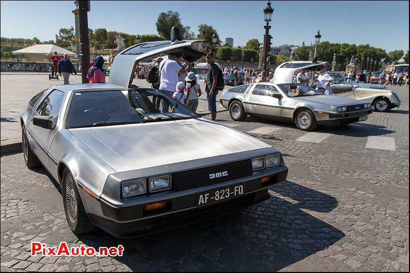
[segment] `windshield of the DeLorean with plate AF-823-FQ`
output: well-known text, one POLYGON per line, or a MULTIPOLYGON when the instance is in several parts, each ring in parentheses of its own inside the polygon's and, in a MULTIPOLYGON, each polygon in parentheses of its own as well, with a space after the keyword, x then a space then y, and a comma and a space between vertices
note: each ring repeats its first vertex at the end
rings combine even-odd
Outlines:
POLYGON ((182 103, 153 89, 86 91, 74 93, 66 127, 96 127, 193 117, 197 115, 182 103), (162 112, 155 107, 157 99, 169 102, 168 112, 162 112))

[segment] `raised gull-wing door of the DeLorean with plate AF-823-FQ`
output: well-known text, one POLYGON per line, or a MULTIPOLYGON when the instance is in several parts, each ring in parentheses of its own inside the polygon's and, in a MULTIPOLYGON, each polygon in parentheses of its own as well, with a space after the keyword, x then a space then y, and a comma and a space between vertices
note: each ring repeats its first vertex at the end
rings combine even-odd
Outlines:
POLYGON ((152 41, 140 43, 118 53, 110 72, 110 83, 128 88, 133 80, 137 62, 159 54, 172 54, 184 61, 194 62, 203 54, 209 54, 212 46, 204 40, 152 41))

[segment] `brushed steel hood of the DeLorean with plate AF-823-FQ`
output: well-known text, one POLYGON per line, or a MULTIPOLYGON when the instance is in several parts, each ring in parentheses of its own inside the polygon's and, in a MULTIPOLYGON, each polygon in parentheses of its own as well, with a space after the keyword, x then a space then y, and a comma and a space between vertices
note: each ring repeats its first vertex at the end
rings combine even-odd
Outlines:
POLYGON ((69 131, 118 173, 271 147, 203 118, 69 131))

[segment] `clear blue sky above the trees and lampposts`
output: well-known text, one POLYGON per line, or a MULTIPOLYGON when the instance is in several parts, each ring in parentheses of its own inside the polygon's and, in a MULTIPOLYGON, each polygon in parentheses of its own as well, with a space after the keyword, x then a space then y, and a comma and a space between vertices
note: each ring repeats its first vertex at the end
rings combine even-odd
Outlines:
MULTIPOLYGON (((91 29, 128 34, 157 34, 158 14, 179 12, 183 26, 198 33, 198 25, 213 26, 222 41, 243 46, 251 38, 263 41, 263 9, 267 1, 91 1, 91 29)), ((60 28, 75 26, 74 1, 1 1, 1 36, 55 40, 60 28)), ((273 1, 272 46, 321 41, 369 44, 387 52, 408 50, 408 1, 273 1)))

